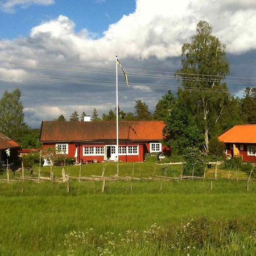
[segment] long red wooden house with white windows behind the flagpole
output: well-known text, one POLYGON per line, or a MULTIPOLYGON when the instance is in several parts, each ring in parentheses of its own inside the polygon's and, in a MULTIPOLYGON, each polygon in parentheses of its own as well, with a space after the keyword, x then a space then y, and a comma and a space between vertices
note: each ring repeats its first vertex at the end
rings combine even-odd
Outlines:
MULTIPOLYGON (((118 156, 122 162, 142 162, 147 152, 167 150, 162 121, 120 121, 118 156)), ((117 160, 116 123, 43 121, 43 148, 56 147, 77 162, 117 160)))

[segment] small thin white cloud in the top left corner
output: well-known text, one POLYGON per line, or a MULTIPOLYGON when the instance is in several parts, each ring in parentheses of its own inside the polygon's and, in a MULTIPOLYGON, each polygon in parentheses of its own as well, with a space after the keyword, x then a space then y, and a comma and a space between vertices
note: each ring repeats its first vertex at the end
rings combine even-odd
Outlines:
POLYGON ((52 5, 54 0, 1 0, 0 9, 6 13, 14 13, 16 6, 28 7, 30 5, 52 5))

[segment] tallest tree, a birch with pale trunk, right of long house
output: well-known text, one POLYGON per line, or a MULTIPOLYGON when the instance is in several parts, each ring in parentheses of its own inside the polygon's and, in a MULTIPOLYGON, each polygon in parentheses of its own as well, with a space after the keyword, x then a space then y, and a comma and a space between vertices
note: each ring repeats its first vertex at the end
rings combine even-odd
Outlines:
POLYGON ((225 45, 212 35, 209 23, 201 20, 191 43, 183 45, 181 56, 182 68, 177 71, 183 84, 181 97, 202 127, 208 152, 209 130, 214 129, 227 104, 228 89, 222 82, 229 73, 225 45))

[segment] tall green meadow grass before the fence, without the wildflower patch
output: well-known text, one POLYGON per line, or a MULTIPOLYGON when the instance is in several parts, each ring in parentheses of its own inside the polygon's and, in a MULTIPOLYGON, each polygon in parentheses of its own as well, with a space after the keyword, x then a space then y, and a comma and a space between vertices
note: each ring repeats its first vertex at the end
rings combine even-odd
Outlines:
MULTIPOLYGON (((64 245, 65 235, 73 230, 85 233, 93 228, 97 239, 113 232, 117 240, 118 234, 124 236, 131 229, 141 233, 155 222, 165 228, 184 225, 188 218, 200 216, 223 223, 234 219, 238 223, 247 218, 251 223, 256 220, 255 183, 251 183, 249 191, 246 182, 229 180, 214 181, 212 191, 208 180, 133 181, 132 191, 131 181, 106 182, 104 193, 101 186, 101 181, 71 181, 71 190, 67 192, 67 183, 0 183, 0 255, 68 255, 70 248, 64 245)), ((249 246, 247 231, 238 227, 235 232, 238 242, 249 246)), ((226 244, 221 246, 217 251, 228 248, 226 244)), ((100 247, 106 249, 104 243, 100 247)), ((112 253, 170 253, 170 249, 155 242, 144 247, 120 247, 112 253)), ((204 246, 210 252, 214 248, 216 245, 212 243, 204 246)), ((86 255, 87 249, 78 247, 76 253, 86 255), (85 253, 81 254, 82 251, 85 253)), ((96 249, 90 249, 92 255, 104 252, 96 249)), ((179 250, 171 253, 181 255, 179 250)))

